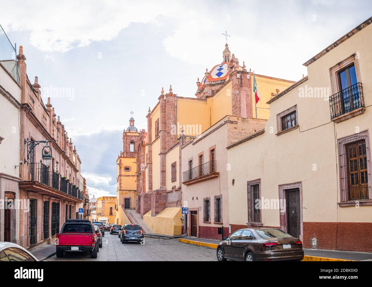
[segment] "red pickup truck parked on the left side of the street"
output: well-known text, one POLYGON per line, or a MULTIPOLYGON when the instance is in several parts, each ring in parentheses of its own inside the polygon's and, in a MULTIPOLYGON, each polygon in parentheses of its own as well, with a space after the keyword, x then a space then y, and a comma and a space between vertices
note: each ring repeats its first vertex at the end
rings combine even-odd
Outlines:
POLYGON ((64 252, 89 251, 91 258, 97 258, 99 246, 95 230, 88 219, 67 219, 55 236, 57 257, 63 257, 64 252))

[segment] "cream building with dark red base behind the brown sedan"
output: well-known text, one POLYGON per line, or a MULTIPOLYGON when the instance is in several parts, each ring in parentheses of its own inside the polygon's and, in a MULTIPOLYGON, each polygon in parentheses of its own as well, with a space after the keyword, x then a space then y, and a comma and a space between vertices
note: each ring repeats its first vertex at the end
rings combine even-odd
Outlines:
POLYGON ((305 248, 372 251, 371 22, 308 60, 268 102, 265 128, 228 147, 231 232, 272 226, 305 248))

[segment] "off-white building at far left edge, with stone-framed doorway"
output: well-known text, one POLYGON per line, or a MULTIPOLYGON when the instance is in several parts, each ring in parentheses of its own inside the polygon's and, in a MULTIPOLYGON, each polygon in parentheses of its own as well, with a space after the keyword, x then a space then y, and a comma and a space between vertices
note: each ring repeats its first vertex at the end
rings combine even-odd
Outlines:
MULTIPOLYGON (((20 96, 15 59, 0 61, 0 200, 9 207, 19 200, 20 96)), ((19 209, 1 208, 0 241, 19 244, 19 209)))

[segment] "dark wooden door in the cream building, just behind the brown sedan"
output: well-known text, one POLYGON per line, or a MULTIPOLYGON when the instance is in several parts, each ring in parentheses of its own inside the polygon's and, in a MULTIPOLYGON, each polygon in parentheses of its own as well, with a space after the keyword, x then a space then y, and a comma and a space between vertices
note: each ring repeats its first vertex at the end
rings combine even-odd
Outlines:
POLYGON ((301 210, 298 188, 287 191, 287 223, 287 233, 299 238, 301 233, 301 210))

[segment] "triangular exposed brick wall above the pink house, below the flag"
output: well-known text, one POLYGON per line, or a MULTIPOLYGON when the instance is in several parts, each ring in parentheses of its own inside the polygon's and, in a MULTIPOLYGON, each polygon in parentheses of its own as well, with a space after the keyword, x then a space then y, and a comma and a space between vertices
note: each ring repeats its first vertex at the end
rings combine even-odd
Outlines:
POLYGON ((236 120, 237 124, 227 124, 227 145, 235 143, 236 141, 242 140, 243 138, 248 137, 251 134, 256 133, 259 130, 262 130, 265 127, 267 122, 266 119, 256 119, 256 118, 232 118, 236 120))

